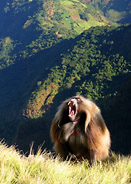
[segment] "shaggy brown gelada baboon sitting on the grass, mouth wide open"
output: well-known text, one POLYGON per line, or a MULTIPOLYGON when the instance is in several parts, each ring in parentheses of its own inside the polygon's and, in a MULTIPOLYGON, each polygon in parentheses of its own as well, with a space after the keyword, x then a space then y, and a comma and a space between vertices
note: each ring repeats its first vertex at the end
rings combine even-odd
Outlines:
POLYGON ((82 96, 65 100, 52 121, 51 139, 64 159, 75 155, 90 163, 109 155, 110 133, 98 106, 82 96))

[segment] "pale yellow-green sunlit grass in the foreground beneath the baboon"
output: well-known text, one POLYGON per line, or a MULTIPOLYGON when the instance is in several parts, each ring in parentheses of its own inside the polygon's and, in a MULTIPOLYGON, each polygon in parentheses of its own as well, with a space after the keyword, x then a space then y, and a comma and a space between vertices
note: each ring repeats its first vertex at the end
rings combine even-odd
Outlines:
POLYGON ((9 184, 129 184, 131 159, 114 155, 106 163, 90 167, 87 161, 72 164, 52 159, 50 154, 20 155, 0 143, 0 183, 9 184))

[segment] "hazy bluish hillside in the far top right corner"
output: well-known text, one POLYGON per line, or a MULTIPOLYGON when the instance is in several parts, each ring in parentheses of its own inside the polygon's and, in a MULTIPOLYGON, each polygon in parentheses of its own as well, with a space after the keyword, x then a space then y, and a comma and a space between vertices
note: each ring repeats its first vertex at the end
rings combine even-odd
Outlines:
POLYGON ((103 19, 114 23, 129 23, 131 20, 130 0, 82 0, 103 13, 103 19))

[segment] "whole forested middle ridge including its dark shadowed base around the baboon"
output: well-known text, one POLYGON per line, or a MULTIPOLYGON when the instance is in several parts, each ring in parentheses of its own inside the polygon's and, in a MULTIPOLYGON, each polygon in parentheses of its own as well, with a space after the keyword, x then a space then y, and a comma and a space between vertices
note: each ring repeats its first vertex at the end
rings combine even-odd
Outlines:
POLYGON ((96 27, 72 40, 71 48, 61 55, 47 78, 37 83, 27 101, 23 116, 32 120, 18 130, 15 141, 20 149, 27 151, 31 140, 34 148, 45 141, 44 147, 51 149, 49 129, 58 105, 81 94, 100 105, 113 150, 130 152, 130 33, 131 25, 96 27))

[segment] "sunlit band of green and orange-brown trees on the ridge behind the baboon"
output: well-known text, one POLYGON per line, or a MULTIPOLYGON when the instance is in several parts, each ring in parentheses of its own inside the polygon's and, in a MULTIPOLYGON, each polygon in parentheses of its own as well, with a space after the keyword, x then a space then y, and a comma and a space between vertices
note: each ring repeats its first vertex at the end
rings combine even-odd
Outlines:
POLYGON ((120 83, 116 85, 114 78, 119 77, 118 81, 121 81, 121 76, 130 72, 131 43, 125 40, 130 34, 130 25, 117 29, 96 27, 85 31, 74 40, 73 48, 61 55, 61 63, 51 68, 47 78, 38 81, 25 116, 39 117, 53 103, 55 96, 64 94, 65 90, 95 101, 116 95, 120 83))

